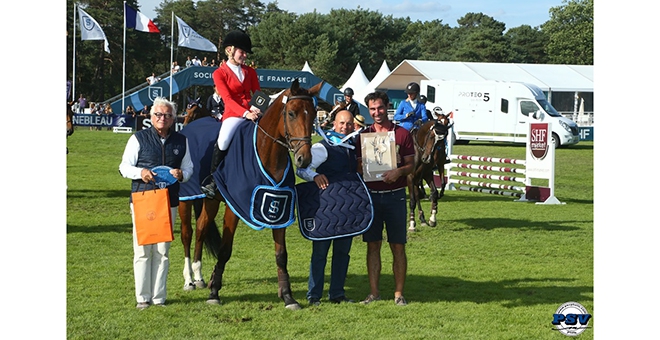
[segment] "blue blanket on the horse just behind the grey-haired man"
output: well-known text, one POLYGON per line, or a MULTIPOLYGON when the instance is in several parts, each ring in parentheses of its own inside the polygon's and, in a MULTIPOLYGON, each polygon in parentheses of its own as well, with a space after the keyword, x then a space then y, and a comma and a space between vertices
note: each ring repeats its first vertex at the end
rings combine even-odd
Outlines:
POLYGON ((190 179, 181 183, 179 200, 190 201, 206 197, 200 187, 202 181, 211 174, 213 146, 217 143, 221 125, 213 117, 204 117, 188 123, 181 129, 180 133, 188 139, 188 152, 195 166, 190 179))

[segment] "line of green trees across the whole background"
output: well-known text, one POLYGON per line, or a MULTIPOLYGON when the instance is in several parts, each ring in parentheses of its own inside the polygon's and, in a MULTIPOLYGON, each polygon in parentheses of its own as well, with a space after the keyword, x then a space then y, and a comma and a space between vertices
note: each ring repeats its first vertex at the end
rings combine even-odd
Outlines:
MULTIPOLYGON (((111 53, 103 41, 80 41, 76 27, 76 94, 103 101, 122 91, 123 0, 87 0, 79 5, 102 26, 111 53)), ((140 10, 136 0, 126 3, 140 10)), ((67 76, 73 77, 73 11, 67 0, 67 76)), ((126 31, 126 89, 145 77, 170 70, 171 35, 174 60, 184 65, 188 56, 224 59, 222 38, 233 29, 250 34, 253 53, 248 63, 258 68, 300 70, 308 62, 314 74, 340 87, 359 62, 372 78, 383 60, 390 69, 405 59, 465 62, 593 65, 593 0, 563 0, 552 7, 548 21, 537 27, 508 28, 483 13, 466 13, 451 27, 442 20, 422 22, 395 18, 378 11, 333 9, 295 14, 277 1, 163 0, 152 18, 160 34, 126 31), (172 13, 218 46, 218 53, 178 47, 172 13)), ((77 17, 77 14, 76 14, 77 17)), ((78 21, 76 21, 78 22, 78 21)), ((205 89, 205 95, 210 94, 205 89)))

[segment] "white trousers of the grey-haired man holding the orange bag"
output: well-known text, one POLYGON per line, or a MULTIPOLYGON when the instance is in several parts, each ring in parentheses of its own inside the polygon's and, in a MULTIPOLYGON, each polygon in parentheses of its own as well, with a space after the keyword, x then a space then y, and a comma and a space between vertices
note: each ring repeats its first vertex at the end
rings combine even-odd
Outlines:
MULTIPOLYGON (((172 225, 177 216, 177 207, 172 207, 172 225)), ((133 220, 133 274, 135 276, 135 299, 137 302, 163 304, 167 298, 167 273, 170 269, 170 244, 161 242, 146 246, 137 244, 135 216, 133 220)))

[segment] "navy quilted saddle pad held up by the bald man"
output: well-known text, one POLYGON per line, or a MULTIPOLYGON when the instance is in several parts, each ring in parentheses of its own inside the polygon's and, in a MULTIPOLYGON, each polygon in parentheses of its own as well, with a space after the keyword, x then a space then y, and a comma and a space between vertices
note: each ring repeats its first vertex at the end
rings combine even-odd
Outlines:
POLYGON ((373 203, 357 173, 330 180, 324 190, 314 182, 296 185, 298 225, 312 241, 356 236, 373 222, 373 203))

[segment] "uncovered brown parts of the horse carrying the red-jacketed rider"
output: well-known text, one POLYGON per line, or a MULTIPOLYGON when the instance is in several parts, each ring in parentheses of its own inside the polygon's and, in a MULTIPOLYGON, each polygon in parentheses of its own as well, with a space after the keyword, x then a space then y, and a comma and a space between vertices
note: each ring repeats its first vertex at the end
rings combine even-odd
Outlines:
MULTIPOLYGON (((263 170, 277 183, 283 181, 284 175, 289 173, 287 169, 292 163, 290 152, 293 154, 293 163, 296 167, 304 168, 311 163, 311 136, 316 120, 314 97, 321 91, 322 86, 323 82, 320 82, 306 90, 300 87, 297 79, 294 80, 291 87, 282 92, 255 123, 257 125, 255 135, 257 155, 255 157, 261 161, 263 170)), ((252 123, 245 122, 243 124, 252 123)), ((236 141, 236 137, 234 136, 233 142, 236 141)), ((229 152, 231 153, 231 149, 235 147, 238 146, 232 145, 229 152)), ((218 185, 221 185, 221 183, 218 183, 218 185)), ((215 195, 214 199, 204 199, 204 208, 197 220, 198 229, 206 228, 208 223, 216 217, 220 207, 218 197, 221 197, 221 195, 215 195)), ((218 293, 222 288, 222 275, 225 265, 231 257, 238 221, 239 217, 230 209, 230 205, 225 204, 222 237, 214 239, 208 234, 205 239, 205 244, 210 247, 217 247, 213 253, 219 255, 209 282, 210 293, 206 300, 208 304, 220 304, 218 293)), ((271 229, 275 242, 278 297, 284 301, 285 308, 290 310, 301 309, 300 304, 293 298, 291 292, 287 270, 286 228, 271 229)))

